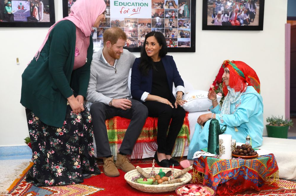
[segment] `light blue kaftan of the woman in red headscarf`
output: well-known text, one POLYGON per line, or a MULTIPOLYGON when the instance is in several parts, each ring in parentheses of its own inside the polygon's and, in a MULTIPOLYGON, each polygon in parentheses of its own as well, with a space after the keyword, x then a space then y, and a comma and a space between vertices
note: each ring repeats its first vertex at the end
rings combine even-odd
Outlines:
MULTIPOLYGON (((216 119, 220 123, 220 128, 227 125, 224 134, 230 134, 236 142, 244 143, 247 135, 252 139, 252 147, 259 147, 263 141, 263 103, 262 96, 252 87, 248 86, 246 92, 230 105, 231 114, 220 114, 221 107, 218 105, 210 111, 216 114, 216 119)), ((207 148, 209 137, 209 124, 205 123, 202 128, 195 125, 194 135, 189 145, 187 158, 193 159, 193 154, 202 148, 207 148)))

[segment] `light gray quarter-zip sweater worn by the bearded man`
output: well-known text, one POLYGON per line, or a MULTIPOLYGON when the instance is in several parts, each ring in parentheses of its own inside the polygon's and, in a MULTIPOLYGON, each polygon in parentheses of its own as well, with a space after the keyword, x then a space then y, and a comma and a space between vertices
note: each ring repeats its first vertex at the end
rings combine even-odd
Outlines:
POLYGON ((91 61, 86 100, 91 103, 99 101, 108 105, 113 98, 120 99, 131 96, 128 89, 128 74, 136 56, 123 49, 120 59, 115 62, 117 70, 115 73, 115 65, 110 66, 105 63, 102 50, 103 48, 96 52, 91 61))

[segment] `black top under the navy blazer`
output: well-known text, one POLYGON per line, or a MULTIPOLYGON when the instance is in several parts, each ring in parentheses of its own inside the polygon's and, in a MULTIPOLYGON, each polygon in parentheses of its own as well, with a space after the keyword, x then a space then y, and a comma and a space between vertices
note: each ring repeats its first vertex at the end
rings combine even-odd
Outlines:
POLYGON ((154 62, 155 68, 152 70, 152 90, 151 95, 157 95, 171 101, 170 88, 168 79, 163 67, 163 62, 160 60, 154 62))

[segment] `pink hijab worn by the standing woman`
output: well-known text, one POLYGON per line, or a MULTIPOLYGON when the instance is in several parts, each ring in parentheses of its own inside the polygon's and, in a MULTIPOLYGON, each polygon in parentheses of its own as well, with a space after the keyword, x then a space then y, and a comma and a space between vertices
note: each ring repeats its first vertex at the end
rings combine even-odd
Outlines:
POLYGON ((35 54, 36 61, 38 60, 39 54, 48 39, 49 33, 57 23, 62 20, 70 20, 84 33, 86 37, 89 37, 91 35, 92 26, 96 22, 98 16, 102 14, 105 9, 106 4, 104 0, 77 0, 71 7, 71 13, 69 16, 62 18, 49 28, 42 45, 35 54))

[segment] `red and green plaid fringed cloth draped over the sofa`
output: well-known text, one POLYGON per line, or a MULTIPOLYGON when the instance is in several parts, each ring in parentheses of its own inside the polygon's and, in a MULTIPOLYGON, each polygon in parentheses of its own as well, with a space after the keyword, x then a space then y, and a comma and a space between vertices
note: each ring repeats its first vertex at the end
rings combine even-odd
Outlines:
MULTIPOLYGON (((123 141, 126 129, 130 119, 115 116, 105 121, 110 143, 110 149, 113 155, 116 155, 123 141)), ((136 141, 133 149, 133 158, 140 159, 143 155, 143 148, 146 151, 155 152, 157 150, 157 121, 158 118, 148 117, 142 128, 142 132, 136 141)), ((183 156, 186 145, 189 145, 189 120, 188 112, 184 119, 182 128, 177 136, 172 156, 183 156)))

